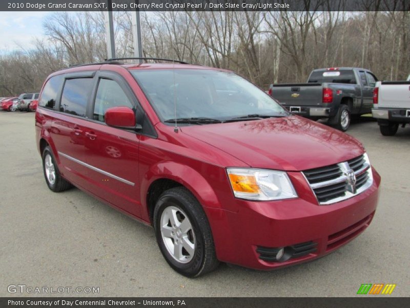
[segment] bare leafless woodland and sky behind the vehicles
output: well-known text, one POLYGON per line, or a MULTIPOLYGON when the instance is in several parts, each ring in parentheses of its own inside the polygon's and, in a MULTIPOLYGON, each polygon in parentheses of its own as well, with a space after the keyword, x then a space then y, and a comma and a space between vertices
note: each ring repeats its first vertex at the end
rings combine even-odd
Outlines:
MULTIPOLYGON (((141 12, 147 57, 231 69, 263 89, 305 82, 313 68, 410 74, 410 12, 141 12)), ((116 56, 133 56, 130 12, 114 12, 116 56)), ((0 97, 38 92, 48 74, 107 57, 103 12, 50 13, 46 38, 0 55, 0 97)))

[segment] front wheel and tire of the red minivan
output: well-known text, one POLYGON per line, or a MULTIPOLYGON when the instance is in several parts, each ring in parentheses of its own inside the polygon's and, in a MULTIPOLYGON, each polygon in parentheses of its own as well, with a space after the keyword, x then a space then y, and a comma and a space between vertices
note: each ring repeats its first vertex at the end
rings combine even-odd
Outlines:
POLYGON ((208 219, 186 188, 162 193, 155 205, 153 222, 159 249, 176 272, 198 277, 218 266, 208 219))

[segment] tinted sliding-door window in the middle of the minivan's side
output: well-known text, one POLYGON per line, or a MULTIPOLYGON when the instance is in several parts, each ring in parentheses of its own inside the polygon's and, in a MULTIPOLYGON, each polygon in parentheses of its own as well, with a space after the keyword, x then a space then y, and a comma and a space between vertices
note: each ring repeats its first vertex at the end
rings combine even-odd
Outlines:
POLYGON ((61 95, 60 111, 85 117, 92 82, 92 78, 67 79, 61 95))

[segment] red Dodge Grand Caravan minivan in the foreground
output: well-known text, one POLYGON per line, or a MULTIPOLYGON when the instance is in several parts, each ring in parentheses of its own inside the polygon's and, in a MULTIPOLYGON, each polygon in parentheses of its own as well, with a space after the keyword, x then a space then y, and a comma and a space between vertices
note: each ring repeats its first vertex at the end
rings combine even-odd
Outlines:
POLYGON ((380 176, 353 137, 231 71, 118 60, 46 80, 35 115, 46 183, 152 225, 178 273, 313 260, 371 223, 380 176))

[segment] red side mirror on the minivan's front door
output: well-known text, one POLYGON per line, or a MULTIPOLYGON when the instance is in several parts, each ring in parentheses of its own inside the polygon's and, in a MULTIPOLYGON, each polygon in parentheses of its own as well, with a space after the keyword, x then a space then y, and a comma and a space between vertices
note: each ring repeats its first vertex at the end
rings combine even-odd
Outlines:
POLYGON ((107 125, 122 128, 139 130, 141 125, 136 124, 135 113, 129 107, 111 107, 106 110, 105 122, 107 125))

